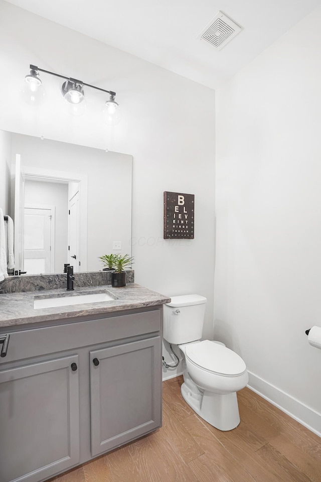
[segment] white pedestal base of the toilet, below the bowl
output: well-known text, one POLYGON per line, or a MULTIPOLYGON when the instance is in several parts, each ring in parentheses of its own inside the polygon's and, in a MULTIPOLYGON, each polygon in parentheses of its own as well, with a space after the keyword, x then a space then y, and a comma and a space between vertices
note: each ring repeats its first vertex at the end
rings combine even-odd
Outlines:
POLYGON ((184 373, 181 393, 186 403, 213 427, 226 432, 240 423, 236 392, 221 395, 200 390, 188 373, 184 373))

